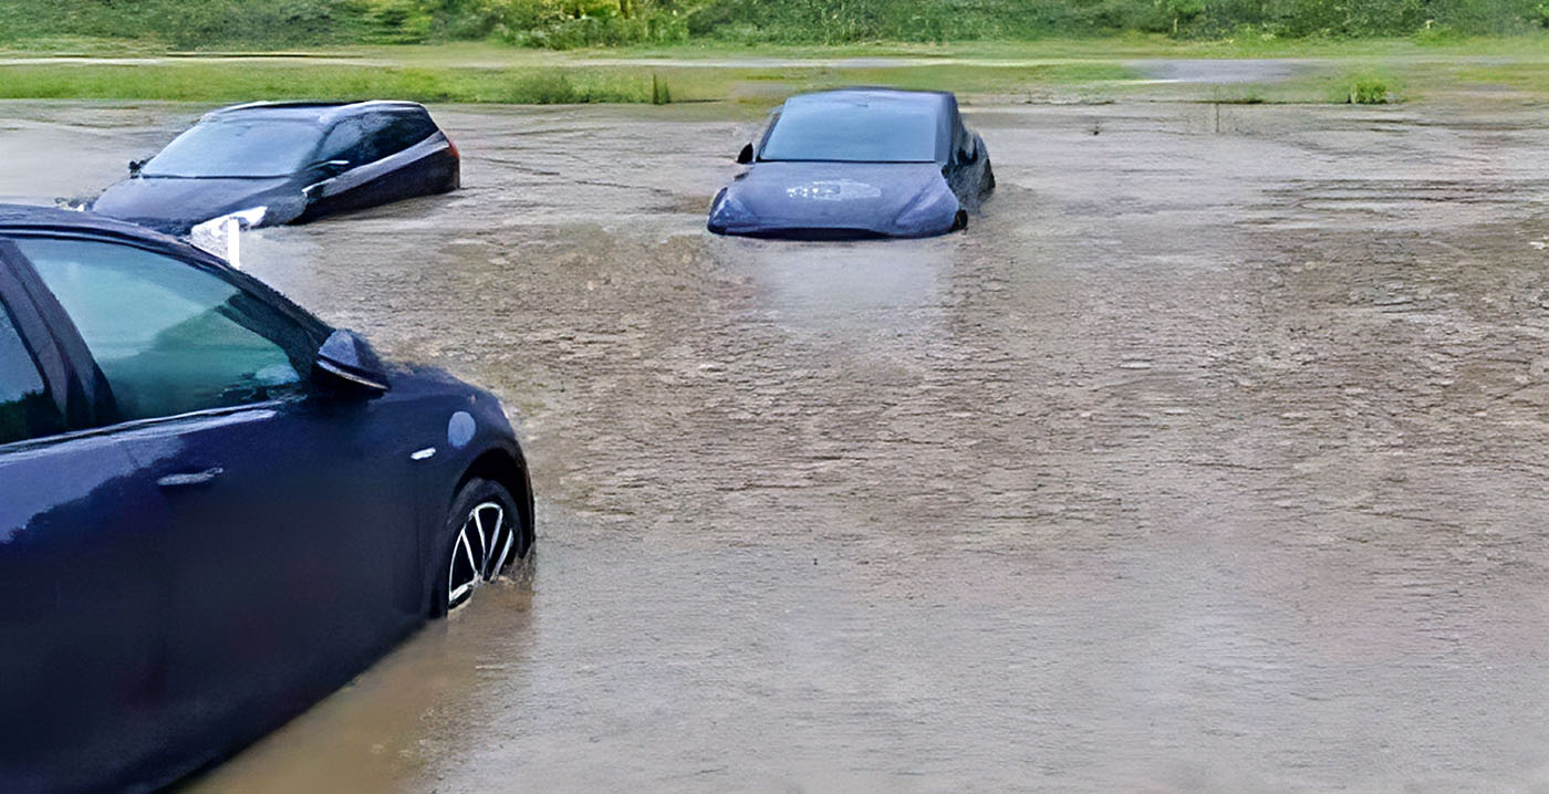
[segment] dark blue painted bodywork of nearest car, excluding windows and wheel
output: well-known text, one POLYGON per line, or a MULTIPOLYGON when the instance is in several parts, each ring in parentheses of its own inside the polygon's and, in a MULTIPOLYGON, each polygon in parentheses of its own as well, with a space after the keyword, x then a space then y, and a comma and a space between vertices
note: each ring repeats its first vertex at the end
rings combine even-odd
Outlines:
POLYGON ((40 339, 19 297, 28 263, 5 240, 29 235, 175 255, 327 331, 177 240, 0 206, 0 310, 71 407, 65 432, 0 443, 0 791, 160 788, 349 681, 431 613, 431 560, 471 472, 502 480, 531 542, 497 399, 435 370, 390 368, 375 398, 115 421, 67 334, 40 339))

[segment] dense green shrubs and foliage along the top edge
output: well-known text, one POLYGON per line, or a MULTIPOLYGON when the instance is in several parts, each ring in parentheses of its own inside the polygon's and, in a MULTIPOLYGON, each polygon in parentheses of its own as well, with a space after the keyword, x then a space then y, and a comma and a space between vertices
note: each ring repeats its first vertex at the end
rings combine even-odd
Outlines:
POLYGON ((0 42, 144 39, 218 48, 500 40, 575 48, 730 40, 1510 36, 1549 0, 6 0, 0 42))

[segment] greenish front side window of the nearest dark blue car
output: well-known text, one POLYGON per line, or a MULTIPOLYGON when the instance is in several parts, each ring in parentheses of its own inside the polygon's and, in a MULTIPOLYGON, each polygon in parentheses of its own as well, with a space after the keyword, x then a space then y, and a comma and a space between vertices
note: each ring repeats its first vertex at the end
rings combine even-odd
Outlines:
POLYGON ((225 279, 118 243, 22 238, 17 246, 74 320, 121 418, 301 392, 308 334, 225 279))

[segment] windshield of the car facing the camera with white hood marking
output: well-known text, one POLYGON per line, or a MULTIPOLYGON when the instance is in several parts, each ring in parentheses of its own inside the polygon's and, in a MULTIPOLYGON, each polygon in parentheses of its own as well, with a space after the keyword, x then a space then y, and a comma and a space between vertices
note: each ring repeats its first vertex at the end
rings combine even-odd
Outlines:
POLYGON ((936 113, 902 102, 788 102, 759 159, 929 163, 936 113))

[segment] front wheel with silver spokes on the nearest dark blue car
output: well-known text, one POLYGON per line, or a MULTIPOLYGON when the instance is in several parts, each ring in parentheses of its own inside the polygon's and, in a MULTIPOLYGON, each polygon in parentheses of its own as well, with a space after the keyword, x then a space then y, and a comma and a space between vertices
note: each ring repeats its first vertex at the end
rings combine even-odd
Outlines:
POLYGON ((446 512, 437 545, 431 616, 466 604, 479 585, 507 570, 525 546, 527 528, 511 492, 493 480, 469 480, 446 512))

